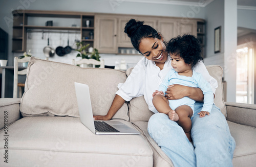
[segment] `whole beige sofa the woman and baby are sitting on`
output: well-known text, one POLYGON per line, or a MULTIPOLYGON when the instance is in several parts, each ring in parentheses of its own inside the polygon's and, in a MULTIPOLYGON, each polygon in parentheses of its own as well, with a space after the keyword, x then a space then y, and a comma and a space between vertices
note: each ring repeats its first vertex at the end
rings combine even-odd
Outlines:
MULTIPOLYGON (((224 103, 222 68, 207 70, 218 81, 215 104, 236 140, 233 166, 253 166, 256 105, 224 103)), ((89 85, 93 114, 104 115, 131 71, 31 57, 22 99, 0 99, 0 166, 173 166, 147 132, 153 112, 143 97, 124 103, 112 118, 140 134, 95 135, 80 122, 74 82, 89 85)))

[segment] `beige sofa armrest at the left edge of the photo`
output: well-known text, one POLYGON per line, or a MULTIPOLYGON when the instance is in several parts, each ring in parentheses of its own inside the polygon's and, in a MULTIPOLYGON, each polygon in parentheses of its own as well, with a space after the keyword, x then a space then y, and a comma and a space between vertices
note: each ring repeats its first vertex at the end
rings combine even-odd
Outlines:
POLYGON ((0 99, 0 130, 20 119, 19 104, 20 99, 17 98, 0 99))

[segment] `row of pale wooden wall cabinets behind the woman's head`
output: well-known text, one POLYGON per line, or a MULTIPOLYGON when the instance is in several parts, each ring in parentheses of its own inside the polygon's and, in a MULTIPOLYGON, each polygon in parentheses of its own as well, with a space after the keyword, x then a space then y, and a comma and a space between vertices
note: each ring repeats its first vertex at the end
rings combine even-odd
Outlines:
POLYGON ((185 33, 197 36, 196 19, 183 23, 182 19, 175 17, 96 14, 95 47, 100 53, 123 54, 122 50, 133 48, 131 39, 124 33, 124 27, 131 18, 144 21, 144 25, 156 29, 163 35, 165 41, 185 33))

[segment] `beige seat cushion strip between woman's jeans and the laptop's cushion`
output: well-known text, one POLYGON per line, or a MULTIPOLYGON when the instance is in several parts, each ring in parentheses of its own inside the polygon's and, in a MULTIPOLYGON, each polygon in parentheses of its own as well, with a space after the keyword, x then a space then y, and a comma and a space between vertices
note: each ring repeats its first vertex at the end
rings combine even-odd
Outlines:
POLYGON ((150 134, 147 132, 147 122, 145 121, 136 121, 133 123, 135 127, 143 134, 145 140, 150 144, 153 150, 154 157, 154 167, 162 166, 174 166, 173 162, 169 157, 161 150, 157 143, 151 138, 150 134))

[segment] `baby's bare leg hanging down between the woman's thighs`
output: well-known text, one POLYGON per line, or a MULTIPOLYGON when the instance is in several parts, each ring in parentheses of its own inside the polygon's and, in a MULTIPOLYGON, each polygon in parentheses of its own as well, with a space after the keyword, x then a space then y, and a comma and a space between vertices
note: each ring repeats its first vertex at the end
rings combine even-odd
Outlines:
POLYGON ((193 110, 191 109, 191 107, 187 105, 182 105, 177 107, 175 111, 179 115, 179 120, 177 121, 177 123, 179 124, 179 126, 183 128, 184 132, 187 135, 188 140, 192 141, 190 137, 190 131, 192 126, 190 117, 193 115, 193 110))

